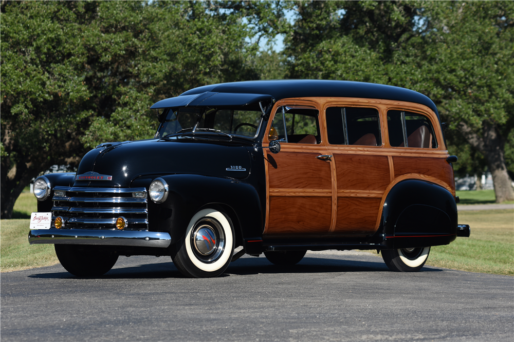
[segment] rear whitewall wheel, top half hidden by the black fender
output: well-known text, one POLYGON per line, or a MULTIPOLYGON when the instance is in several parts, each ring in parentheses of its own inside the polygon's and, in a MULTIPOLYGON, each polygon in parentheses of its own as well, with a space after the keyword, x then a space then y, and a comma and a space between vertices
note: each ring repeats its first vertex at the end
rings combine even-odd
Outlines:
POLYGON ((391 271, 416 272, 425 265, 429 247, 400 248, 382 250, 382 259, 391 271))

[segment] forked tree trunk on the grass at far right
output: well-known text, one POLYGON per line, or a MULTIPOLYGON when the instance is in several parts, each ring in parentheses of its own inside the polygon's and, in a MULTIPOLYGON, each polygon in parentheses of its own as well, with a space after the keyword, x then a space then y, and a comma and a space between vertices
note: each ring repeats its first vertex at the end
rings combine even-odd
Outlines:
POLYGON ((467 137, 471 146, 479 150, 487 161, 487 166, 492 175, 494 194, 496 202, 514 200, 514 189, 512 179, 507 173, 504 156, 504 139, 496 125, 485 121, 483 124, 482 136, 476 134, 469 126, 461 123, 461 131, 467 137))

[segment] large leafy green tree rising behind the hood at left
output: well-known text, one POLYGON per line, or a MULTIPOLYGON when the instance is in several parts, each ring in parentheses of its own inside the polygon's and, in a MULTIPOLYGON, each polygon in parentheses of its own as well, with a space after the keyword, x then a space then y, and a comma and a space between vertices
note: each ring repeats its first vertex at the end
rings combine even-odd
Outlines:
POLYGON ((254 34, 210 2, 1 5, 2 218, 30 180, 105 141, 151 137, 149 108, 193 87, 259 78, 254 34))

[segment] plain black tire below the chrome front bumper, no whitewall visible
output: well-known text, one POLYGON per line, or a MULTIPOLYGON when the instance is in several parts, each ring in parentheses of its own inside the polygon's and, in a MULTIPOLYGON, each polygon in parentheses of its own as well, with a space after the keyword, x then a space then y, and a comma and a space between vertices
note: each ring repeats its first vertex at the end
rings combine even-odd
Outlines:
POLYGON ((118 260, 118 255, 90 245, 54 245, 61 265, 78 277, 104 275, 118 260))

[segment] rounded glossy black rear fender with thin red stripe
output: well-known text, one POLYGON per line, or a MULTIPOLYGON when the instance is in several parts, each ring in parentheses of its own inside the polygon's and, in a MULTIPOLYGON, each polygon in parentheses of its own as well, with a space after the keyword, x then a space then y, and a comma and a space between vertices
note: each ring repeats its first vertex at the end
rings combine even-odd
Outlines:
POLYGON ((380 227, 395 249, 447 245, 457 234, 455 198, 436 184, 404 180, 388 193, 380 227))

